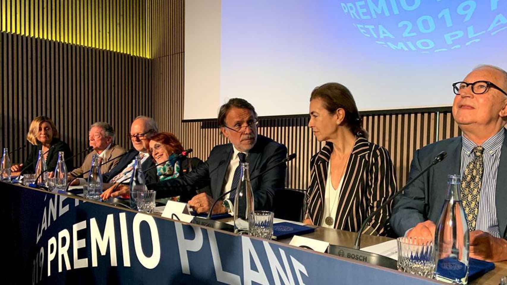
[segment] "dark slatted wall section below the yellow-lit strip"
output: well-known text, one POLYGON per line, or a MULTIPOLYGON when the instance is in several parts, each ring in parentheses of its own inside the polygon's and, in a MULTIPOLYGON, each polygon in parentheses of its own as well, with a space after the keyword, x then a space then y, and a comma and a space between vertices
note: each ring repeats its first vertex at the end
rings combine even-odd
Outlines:
MULTIPOLYGON (((149 59, 6 32, 0 33, 0 47, 2 147, 26 143, 30 121, 47 115, 75 153, 88 146, 95 121, 111 123, 116 142, 130 148, 131 120, 153 115, 149 59)), ((26 155, 24 149, 11 160, 26 155)))

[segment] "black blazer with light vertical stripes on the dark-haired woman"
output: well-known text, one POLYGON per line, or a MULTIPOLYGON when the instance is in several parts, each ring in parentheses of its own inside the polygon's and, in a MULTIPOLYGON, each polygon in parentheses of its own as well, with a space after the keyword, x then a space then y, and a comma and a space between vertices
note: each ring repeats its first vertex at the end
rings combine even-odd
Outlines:
MULTIPOLYGON (((325 183, 333 144, 327 142, 310 160, 310 187, 307 192, 307 218, 314 225, 323 219, 325 183)), ((359 230, 363 219, 396 192, 396 174, 389 152, 384 147, 358 138, 350 153, 338 196, 334 228, 359 230)), ((333 204, 334 201, 331 201, 333 204)), ((391 206, 381 210, 364 230, 372 235, 386 235, 391 206)))

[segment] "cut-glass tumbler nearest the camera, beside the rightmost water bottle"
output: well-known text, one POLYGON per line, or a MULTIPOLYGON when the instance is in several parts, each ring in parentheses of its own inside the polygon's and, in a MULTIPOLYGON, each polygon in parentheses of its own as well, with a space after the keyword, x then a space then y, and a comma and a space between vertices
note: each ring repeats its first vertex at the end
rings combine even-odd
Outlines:
POLYGON ((435 271, 433 241, 424 238, 399 237, 398 270, 432 278, 435 271))

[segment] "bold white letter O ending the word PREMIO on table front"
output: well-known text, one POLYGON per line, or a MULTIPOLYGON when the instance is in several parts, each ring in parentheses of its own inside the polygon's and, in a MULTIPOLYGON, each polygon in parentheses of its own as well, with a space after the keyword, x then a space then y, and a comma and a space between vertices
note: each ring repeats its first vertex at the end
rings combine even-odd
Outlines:
POLYGON ((157 223, 155 222, 155 219, 150 215, 141 213, 135 214, 134 221, 132 224, 132 232, 134 235, 135 254, 137 255, 137 259, 139 260, 139 262, 142 264, 142 266, 148 269, 153 269, 157 267, 157 265, 160 262, 160 240, 158 236, 157 223), (153 253, 151 257, 147 257, 142 252, 141 234, 139 231, 139 227, 141 222, 143 221, 147 222, 148 225, 150 226, 150 232, 152 235, 152 248, 153 248, 153 253))

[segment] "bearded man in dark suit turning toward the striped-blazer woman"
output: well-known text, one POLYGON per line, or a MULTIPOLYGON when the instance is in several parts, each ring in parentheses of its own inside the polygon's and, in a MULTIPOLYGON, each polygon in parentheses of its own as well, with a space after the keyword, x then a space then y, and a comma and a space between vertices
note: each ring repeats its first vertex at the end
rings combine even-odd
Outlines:
MULTIPOLYGON (((149 189, 157 191, 157 198, 180 195, 190 185, 199 188, 209 186, 208 190, 195 195, 189 201, 195 211, 206 213, 222 193, 234 188, 233 180, 239 167, 240 156, 245 155, 250 177, 253 177, 274 166, 287 155, 284 145, 257 134, 257 113, 246 100, 234 98, 222 105, 218 123, 222 134, 230 143, 215 146, 206 162, 187 175, 148 185, 149 189)), ((285 185, 285 169, 285 164, 279 165, 251 181, 255 210, 272 210, 276 191, 282 190, 285 185)), ((106 193, 103 198, 110 194, 117 196, 126 193, 128 187, 119 187, 117 190, 119 191, 115 193, 106 193)), ((225 205, 222 200, 217 202, 213 213, 230 211, 231 203, 227 199, 226 201, 225 205)))

